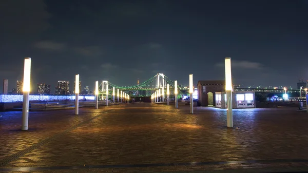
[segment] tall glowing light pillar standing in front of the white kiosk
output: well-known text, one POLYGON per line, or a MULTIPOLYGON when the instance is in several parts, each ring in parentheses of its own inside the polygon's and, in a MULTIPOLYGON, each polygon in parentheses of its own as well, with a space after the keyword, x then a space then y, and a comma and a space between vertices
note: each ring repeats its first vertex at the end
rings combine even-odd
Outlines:
POLYGON ((226 97, 227 97, 227 127, 233 127, 232 75, 231 75, 230 57, 225 58, 225 80, 226 80, 226 97))

